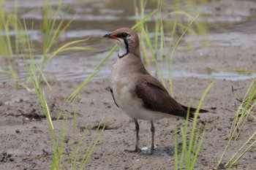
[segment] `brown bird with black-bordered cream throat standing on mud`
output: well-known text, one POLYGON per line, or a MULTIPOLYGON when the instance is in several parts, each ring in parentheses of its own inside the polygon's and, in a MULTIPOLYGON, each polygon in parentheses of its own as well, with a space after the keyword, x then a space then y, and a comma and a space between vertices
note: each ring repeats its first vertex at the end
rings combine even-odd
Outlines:
MULTIPOLYGON (((135 150, 140 152, 138 120, 151 122, 151 152, 154 152, 154 121, 164 117, 194 117, 195 108, 178 103, 165 87, 148 73, 140 55, 138 34, 131 28, 118 28, 103 37, 112 39, 119 47, 118 56, 110 74, 110 92, 116 106, 135 122, 135 150)), ((200 112, 208 112, 200 109, 200 112)))

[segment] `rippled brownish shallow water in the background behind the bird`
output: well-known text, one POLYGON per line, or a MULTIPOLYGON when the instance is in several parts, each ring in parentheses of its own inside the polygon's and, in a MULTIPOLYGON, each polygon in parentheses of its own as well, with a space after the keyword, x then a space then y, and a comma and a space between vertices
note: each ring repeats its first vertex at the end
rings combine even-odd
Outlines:
MULTIPOLYGON (((84 39, 90 36, 87 42, 82 45, 94 47, 94 50, 90 51, 72 51, 68 53, 61 53, 61 55, 54 58, 50 63, 47 64, 45 68, 45 74, 48 78, 57 80, 85 80, 86 77, 94 71, 94 68, 102 60, 102 58, 107 55, 108 51, 112 45, 108 44, 108 41, 102 39, 102 35, 108 33, 108 31, 115 30, 121 27, 131 27, 135 23, 135 12, 134 7, 131 3, 132 1, 64 1, 64 10, 61 11, 61 17, 67 20, 73 19, 69 30, 61 36, 61 42, 68 42, 74 39, 84 39), (70 7, 70 8, 69 8, 70 7), (68 9, 69 10, 65 10, 68 9), (65 12, 68 11, 68 12, 65 12)), ((58 1, 50 1, 50 3, 57 7, 58 1)), ((7 1, 6 9, 7 11, 14 10, 15 1, 7 1)), ((40 20, 42 20, 42 15, 40 8, 42 7, 42 1, 31 1, 23 0, 18 1, 18 16, 19 18, 25 18, 28 23, 34 22, 34 29, 31 30, 31 26, 27 26, 28 33, 31 39, 35 41, 34 51, 36 61, 39 61, 41 55, 40 53, 42 40, 42 34, 39 31, 40 20)), ((151 7, 148 5, 146 7, 146 13, 151 12, 151 7)), ((207 6, 198 6, 200 11, 204 12, 207 17, 199 18, 205 23, 218 23, 218 26, 225 29, 225 31, 219 31, 217 28, 210 28, 206 36, 185 36, 184 41, 178 47, 178 50, 186 49, 188 45, 193 45, 192 49, 202 49, 203 39, 207 39, 209 46, 219 46, 219 47, 249 47, 255 43, 252 38, 249 39, 248 36, 252 36, 252 33, 256 33, 256 17, 250 12, 237 11, 232 13, 227 10, 227 12, 220 16, 219 18, 211 17, 209 14, 207 6)), ((148 20, 148 25, 150 26, 153 20, 148 20)), ((0 35, 5 34, 5 32, 0 31, 0 35)), ((15 35, 15 31, 10 31, 11 35, 15 35)), ((153 36, 153 35, 152 35, 153 36)), ((256 39, 256 37, 255 37, 256 39)), ((168 41, 168 39, 166 39, 168 41)), ((207 50, 205 51, 207 53, 207 50)), ((111 57, 106 63, 113 62, 111 57)), ((23 58, 20 57, 20 66, 18 67, 18 72, 20 80, 26 80, 27 73, 26 69, 23 68, 24 62, 23 58)), ((1 63, 2 68, 6 68, 4 64, 1 63)), ((111 64, 102 68, 102 70, 97 74, 95 78, 108 78, 110 75, 111 64)), ((168 73, 165 71, 165 67, 162 67, 163 77, 167 78, 168 73)), ((151 72, 156 72, 154 67, 151 67, 151 72)), ((188 72, 186 70, 173 70, 173 79, 183 78, 183 77, 198 77, 198 78, 216 78, 225 80, 245 80, 255 77, 256 73, 251 75, 240 75, 236 72, 188 72)), ((5 82, 9 80, 6 74, 0 74, 0 82, 5 82)))

